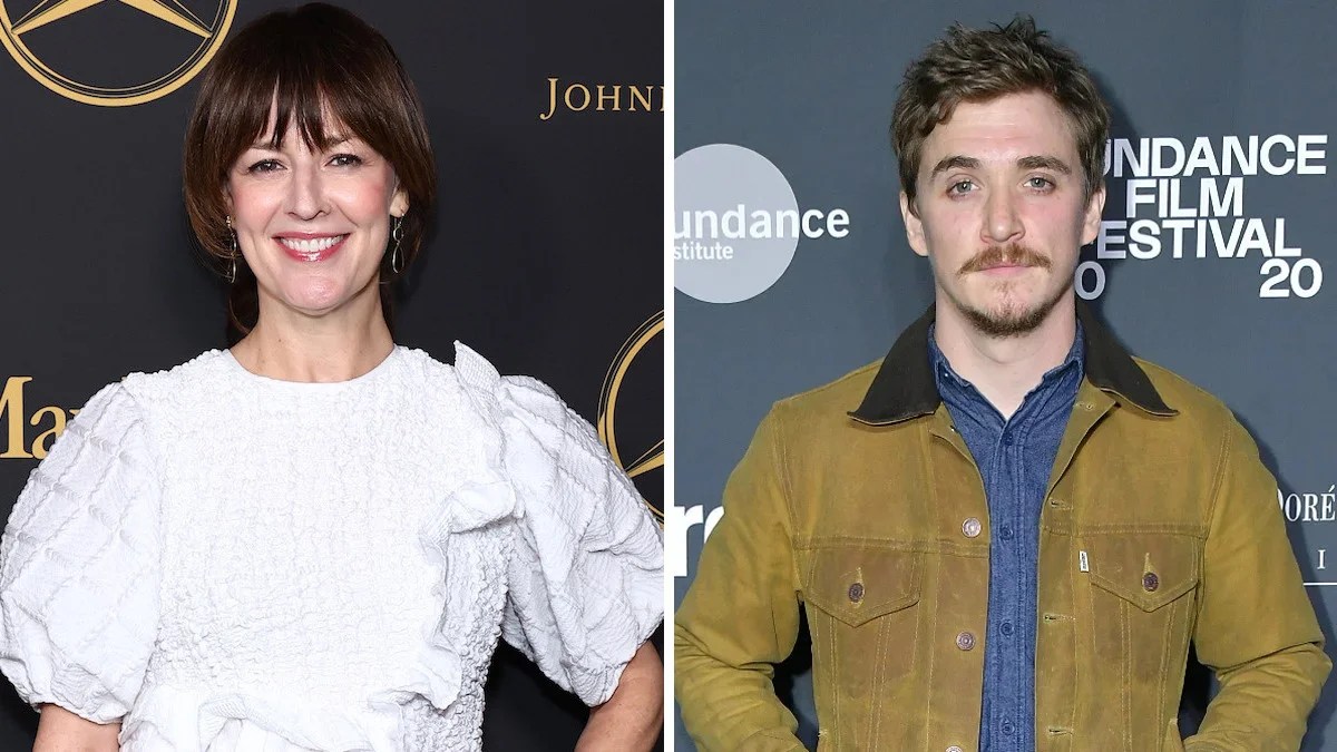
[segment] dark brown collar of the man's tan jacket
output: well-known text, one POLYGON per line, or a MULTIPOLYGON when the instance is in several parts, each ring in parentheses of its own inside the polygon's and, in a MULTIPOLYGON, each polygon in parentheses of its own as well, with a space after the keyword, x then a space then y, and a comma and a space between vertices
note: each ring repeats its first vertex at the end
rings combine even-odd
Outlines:
MULTIPOLYGON (((928 357, 928 332, 935 312, 933 305, 928 306, 928 312, 896 340, 892 352, 886 353, 881 368, 877 369, 868 393, 864 395, 862 404, 849 413, 850 417, 861 423, 885 426, 929 415, 937 409, 943 399, 937 393, 928 357)), ((1151 379, 1134 363, 1132 356, 1082 301, 1078 301, 1078 320, 1082 321, 1086 336, 1083 368, 1094 387, 1114 392, 1152 415, 1177 415, 1161 399, 1151 379)))

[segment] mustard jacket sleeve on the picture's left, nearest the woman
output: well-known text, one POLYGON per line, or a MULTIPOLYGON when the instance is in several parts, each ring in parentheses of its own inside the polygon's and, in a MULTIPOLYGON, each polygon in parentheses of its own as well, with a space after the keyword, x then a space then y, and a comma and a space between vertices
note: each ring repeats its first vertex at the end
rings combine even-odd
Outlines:
POLYGON ((804 749, 771 684, 800 618, 777 423, 774 411, 762 420, 729 478, 725 515, 674 618, 678 704, 702 752, 804 749))

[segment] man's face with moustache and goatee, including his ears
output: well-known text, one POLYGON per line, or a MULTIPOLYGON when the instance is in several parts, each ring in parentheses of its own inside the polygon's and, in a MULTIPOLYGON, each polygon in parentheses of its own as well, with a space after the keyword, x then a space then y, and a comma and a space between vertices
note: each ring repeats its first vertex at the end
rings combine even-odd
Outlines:
POLYGON ((1043 92, 961 103, 924 140, 919 195, 901 215, 933 268, 937 304, 980 332, 1031 332, 1071 294, 1104 189, 1084 198, 1068 116, 1043 92))

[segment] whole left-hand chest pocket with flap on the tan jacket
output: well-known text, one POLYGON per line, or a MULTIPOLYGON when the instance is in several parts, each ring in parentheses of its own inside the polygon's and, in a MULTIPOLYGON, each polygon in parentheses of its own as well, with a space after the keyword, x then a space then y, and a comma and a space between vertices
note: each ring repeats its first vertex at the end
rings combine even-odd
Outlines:
POLYGON ((813 657, 840 693, 876 692, 913 668, 923 561, 844 546, 812 553, 804 601, 813 657))

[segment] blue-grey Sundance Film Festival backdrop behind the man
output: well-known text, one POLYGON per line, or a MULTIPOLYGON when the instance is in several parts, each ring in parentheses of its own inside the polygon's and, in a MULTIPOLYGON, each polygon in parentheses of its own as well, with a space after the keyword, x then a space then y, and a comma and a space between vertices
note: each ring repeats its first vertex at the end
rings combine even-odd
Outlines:
MULTIPOLYGON (((687 248, 699 261, 675 261, 677 597, 770 404, 880 360, 932 301, 897 207, 892 103, 906 64, 948 24, 1019 11, 1086 59, 1114 110, 1104 222, 1078 290, 1134 353, 1225 400, 1258 439, 1333 654, 1330 3, 678 0, 678 214, 745 205, 804 221, 786 237, 675 240, 746 246, 734 258, 687 248)), ((816 743, 810 676, 800 657, 777 684, 816 743)), ((1201 670, 1190 678, 1194 723, 1209 688, 1201 670)), ((1337 749, 1334 707, 1337 680, 1305 751, 1337 749)), ((678 729, 677 748, 693 749, 678 729)))

